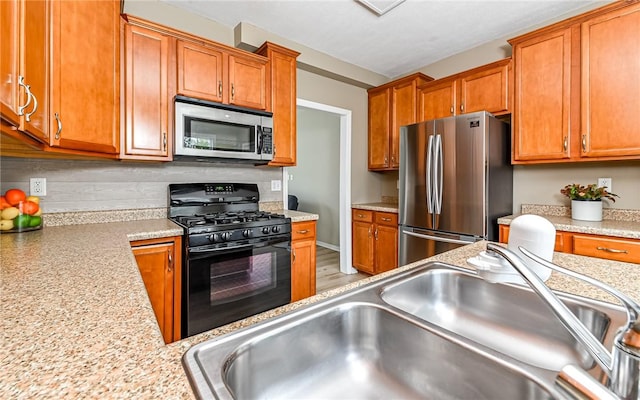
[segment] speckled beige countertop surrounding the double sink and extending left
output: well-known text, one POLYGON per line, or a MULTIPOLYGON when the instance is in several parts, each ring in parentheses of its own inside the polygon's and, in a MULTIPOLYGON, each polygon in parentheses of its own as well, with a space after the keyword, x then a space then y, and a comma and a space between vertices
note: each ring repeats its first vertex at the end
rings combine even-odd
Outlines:
MULTIPOLYGON (((0 235, 0 398, 192 398, 180 361, 192 345, 420 264, 165 345, 129 242, 181 232, 167 219, 151 219, 0 235)), ((433 260, 467 266, 484 247, 475 243, 433 260)), ((640 280, 631 278, 636 264, 562 253, 554 261, 640 300, 640 280)), ((555 273, 548 283, 608 300, 555 273)))

